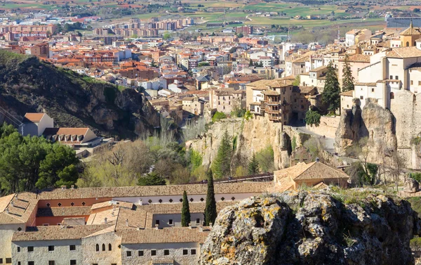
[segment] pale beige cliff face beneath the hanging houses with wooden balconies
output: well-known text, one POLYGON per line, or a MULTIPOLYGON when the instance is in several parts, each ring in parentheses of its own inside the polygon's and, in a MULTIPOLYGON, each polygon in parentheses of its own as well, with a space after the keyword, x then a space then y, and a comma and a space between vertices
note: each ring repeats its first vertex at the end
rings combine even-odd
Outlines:
POLYGON ((290 138, 282 131, 282 124, 269 122, 269 119, 222 119, 216 122, 201 139, 188 141, 187 148, 193 148, 203 157, 203 165, 209 166, 218 154, 222 135, 227 131, 236 138, 234 160, 248 160, 267 146, 274 150, 274 165, 281 169, 289 165, 288 147, 290 138))

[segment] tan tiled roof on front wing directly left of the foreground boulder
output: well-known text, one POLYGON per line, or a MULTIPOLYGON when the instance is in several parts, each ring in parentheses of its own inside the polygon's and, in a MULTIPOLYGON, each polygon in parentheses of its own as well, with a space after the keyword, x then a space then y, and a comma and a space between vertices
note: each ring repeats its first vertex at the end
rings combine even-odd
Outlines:
POLYGON ((199 243, 203 244, 208 237, 210 229, 188 227, 171 228, 145 228, 140 230, 123 231, 121 244, 153 244, 153 243, 199 243))

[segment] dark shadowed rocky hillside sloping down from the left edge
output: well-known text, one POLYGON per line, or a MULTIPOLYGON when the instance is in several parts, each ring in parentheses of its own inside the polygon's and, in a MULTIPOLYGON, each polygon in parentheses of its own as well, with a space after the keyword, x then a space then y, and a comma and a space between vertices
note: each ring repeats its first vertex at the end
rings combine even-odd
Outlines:
MULTIPOLYGON (((159 115, 133 89, 0 50, 0 106, 22 119, 46 112, 56 127, 90 127, 102 136, 133 138, 159 126, 159 115)), ((5 118, 0 114, 0 123, 5 118)))

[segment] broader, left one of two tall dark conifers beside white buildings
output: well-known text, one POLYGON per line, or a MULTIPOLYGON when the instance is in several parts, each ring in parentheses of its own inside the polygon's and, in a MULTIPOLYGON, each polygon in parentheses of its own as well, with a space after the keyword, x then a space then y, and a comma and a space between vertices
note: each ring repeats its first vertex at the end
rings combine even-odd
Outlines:
POLYGON ((328 64, 328 72, 326 72, 326 82, 321 93, 321 101, 328 106, 330 113, 335 112, 340 107, 340 86, 338 75, 336 75, 335 67, 332 62, 328 64))

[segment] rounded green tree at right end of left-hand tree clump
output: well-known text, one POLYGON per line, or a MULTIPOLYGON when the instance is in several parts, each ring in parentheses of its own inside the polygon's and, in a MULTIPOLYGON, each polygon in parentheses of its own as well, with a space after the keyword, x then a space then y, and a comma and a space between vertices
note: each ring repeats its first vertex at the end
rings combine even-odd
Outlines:
POLYGON ((72 148, 54 144, 51 153, 48 153, 46 159, 39 164, 39 179, 36 181, 36 188, 57 187, 59 183, 74 185, 79 173, 69 166, 77 164, 79 164, 79 159, 72 148), (61 179, 60 176, 65 179, 61 179))

